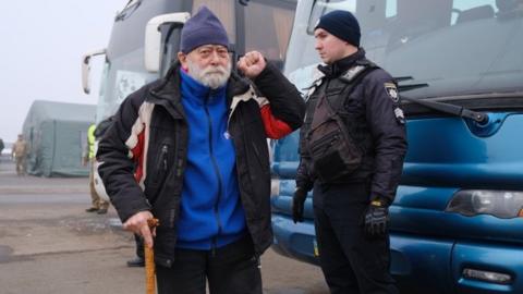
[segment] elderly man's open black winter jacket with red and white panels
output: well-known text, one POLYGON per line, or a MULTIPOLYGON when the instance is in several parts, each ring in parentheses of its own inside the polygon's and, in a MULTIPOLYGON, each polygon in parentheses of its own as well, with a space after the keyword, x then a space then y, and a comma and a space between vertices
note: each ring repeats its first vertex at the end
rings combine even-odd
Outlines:
MULTIPOLYGON (((122 222, 144 210, 159 219, 155 259, 166 267, 174 257, 188 151, 179 66, 173 65, 166 78, 142 87, 123 101, 97 151, 98 172, 122 222)), ((290 130, 300 127, 305 103, 276 66, 267 64, 254 84, 270 103, 273 118, 290 130)), ((266 100, 255 95, 248 82, 231 75, 227 86, 229 134, 236 154, 240 198, 258 256, 272 242, 269 152, 260 113, 266 100)))

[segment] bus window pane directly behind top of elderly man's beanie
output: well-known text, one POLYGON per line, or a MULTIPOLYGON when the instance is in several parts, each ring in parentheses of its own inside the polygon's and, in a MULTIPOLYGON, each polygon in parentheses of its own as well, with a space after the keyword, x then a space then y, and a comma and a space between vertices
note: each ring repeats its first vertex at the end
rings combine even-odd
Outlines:
POLYGON ((227 34, 229 36, 229 42, 236 42, 236 27, 235 27, 235 14, 234 14, 234 0, 194 0, 193 1, 193 11, 191 15, 194 15, 198 12, 198 9, 202 5, 209 8, 220 22, 226 27, 227 34))

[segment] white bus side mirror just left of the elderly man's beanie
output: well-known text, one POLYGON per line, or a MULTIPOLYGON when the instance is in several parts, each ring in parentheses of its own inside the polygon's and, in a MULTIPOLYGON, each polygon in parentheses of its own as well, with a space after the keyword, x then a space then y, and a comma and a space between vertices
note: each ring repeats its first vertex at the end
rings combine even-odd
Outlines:
POLYGON ((161 14, 150 19, 145 27, 145 69, 150 73, 160 70, 161 54, 161 32, 160 26, 167 23, 184 24, 191 14, 188 12, 177 12, 161 14))

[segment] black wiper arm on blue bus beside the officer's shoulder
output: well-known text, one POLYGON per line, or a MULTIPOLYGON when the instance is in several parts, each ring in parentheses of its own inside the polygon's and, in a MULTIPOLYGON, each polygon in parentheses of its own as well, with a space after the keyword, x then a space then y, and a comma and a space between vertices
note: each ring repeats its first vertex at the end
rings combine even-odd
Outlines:
MULTIPOLYGON (((399 76, 394 77, 398 83, 403 82, 403 81, 410 81, 413 79, 412 76, 399 76)), ((417 88, 424 88, 428 87, 428 84, 423 83, 423 84, 410 84, 410 85, 399 85, 398 90, 400 93, 402 91, 408 91, 412 89, 417 89, 417 88)), ((465 119, 471 119, 477 123, 485 124, 488 122, 488 115, 484 112, 478 112, 478 111, 473 111, 470 109, 466 109, 464 107, 460 106, 454 106, 450 103, 443 103, 443 102, 437 102, 437 101, 430 101, 430 100, 423 100, 423 99, 416 99, 416 98, 411 98, 404 95, 400 95, 401 99, 404 99, 406 101, 424 106, 426 108, 430 108, 443 113, 457 115, 460 118, 465 118, 465 119)))

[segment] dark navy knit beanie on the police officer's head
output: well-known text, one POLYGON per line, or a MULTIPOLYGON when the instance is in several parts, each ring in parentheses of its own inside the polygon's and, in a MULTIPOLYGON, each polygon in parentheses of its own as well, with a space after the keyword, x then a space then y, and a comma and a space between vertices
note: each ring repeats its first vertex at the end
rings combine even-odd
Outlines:
POLYGON ((323 28, 336 37, 360 47, 360 24, 349 11, 335 10, 319 17, 314 29, 323 28))

